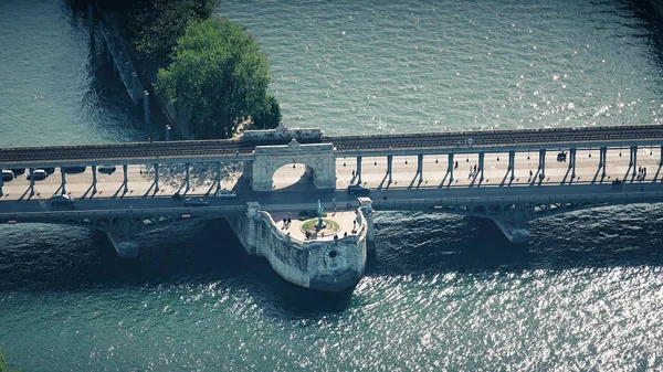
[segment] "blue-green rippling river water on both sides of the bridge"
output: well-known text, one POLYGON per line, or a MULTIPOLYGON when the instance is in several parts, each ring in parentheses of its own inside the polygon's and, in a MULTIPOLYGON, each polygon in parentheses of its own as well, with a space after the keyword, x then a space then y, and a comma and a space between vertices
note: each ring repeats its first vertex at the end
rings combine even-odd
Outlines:
MULTIPOLYGON (((284 121, 329 134, 661 123, 663 31, 627 0, 223 1, 284 121)), ((0 2, 0 146, 159 138, 85 14, 0 2)), ((1 209, 1 206, 0 206, 1 209)), ((352 294, 311 294, 219 222, 106 237, 0 227, 0 346, 24 371, 646 371, 663 366, 663 209, 535 221, 382 213, 352 294)))

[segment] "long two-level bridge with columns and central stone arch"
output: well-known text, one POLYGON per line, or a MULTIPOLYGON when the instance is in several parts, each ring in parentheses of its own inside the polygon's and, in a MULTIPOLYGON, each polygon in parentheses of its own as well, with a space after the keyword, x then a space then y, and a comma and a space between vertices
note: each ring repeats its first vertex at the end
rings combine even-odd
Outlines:
POLYGON ((377 136, 281 127, 233 140, 2 148, 0 169, 61 171, 0 181, 0 223, 81 225, 127 238, 182 220, 244 215, 248 203, 288 212, 318 199, 327 210, 357 206, 346 188, 360 183, 371 189, 372 211, 487 217, 512 242, 526 242, 527 222, 544 215, 660 202, 662 144, 659 125, 377 136), (102 164, 118 171, 99 174, 102 164), (91 170, 67 174, 66 167, 91 170), (213 198, 221 189, 236 198, 213 198), (176 192, 209 204, 187 206, 176 192), (63 193, 75 209, 49 202, 63 193))

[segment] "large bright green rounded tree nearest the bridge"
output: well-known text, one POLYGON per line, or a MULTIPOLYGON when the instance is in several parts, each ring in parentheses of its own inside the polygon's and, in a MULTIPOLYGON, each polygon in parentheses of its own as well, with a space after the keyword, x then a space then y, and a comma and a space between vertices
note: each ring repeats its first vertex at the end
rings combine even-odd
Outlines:
POLYGON ((185 109, 197 138, 228 138, 266 105, 272 78, 255 39, 224 18, 191 23, 159 68, 157 93, 185 109))

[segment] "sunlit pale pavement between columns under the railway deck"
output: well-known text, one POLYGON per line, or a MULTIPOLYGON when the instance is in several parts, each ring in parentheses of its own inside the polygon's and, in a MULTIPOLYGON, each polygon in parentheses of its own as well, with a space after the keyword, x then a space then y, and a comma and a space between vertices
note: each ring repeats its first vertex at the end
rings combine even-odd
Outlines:
MULTIPOLYGON (((393 158, 393 182, 388 184, 386 170, 387 163, 386 158, 364 158, 362 162, 362 182, 367 187, 371 188, 371 198, 380 199, 385 195, 389 195, 392 190, 435 190, 435 189, 474 189, 480 192, 487 192, 483 190, 488 189, 505 189, 505 188, 543 188, 552 185, 573 185, 573 184, 607 184, 609 185, 612 180, 619 178, 625 180, 625 182, 639 183, 636 179, 633 179, 632 169, 629 167, 629 153, 628 150, 622 151, 622 156, 619 156, 619 149, 611 149, 608 151, 607 157, 607 177, 601 179, 598 162, 599 155, 597 150, 578 151, 577 155, 577 178, 571 180, 570 171, 568 170, 567 162, 557 162, 555 159, 550 159, 547 162, 546 178, 539 182, 539 180, 530 178, 529 171, 534 173, 537 171, 538 164, 538 152, 518 152, 516 153, 515 164, 515 179, 512 181, 507 174, 507 153, 494 153, 485 159, 485 180, 480 181, 478 177, 470 177, 470 168, 477 163, 476 155, 456 156, 455 159, 459 161, 459 168, 454 173, 454 181, 450 181, 450 177, 446 173, 446 157, 445 156, 427 156, 423 162, 423 181, 419 183, 419 176, 417 173, 417 158, 415 157, 394 157, 393 158), (592 157, 589 155, 592 153, 592 157), (529 159, 527 159, 529 157, 529 159), (497 160, 499 158, 499 160, 497 160), (406 164, 406 161, 408 162, 406 164), (375 164, 377 162, 377 166, 375 164), (627 176, 627 172, 629 176, 627 176)), ((555 153, 549 156, 555 158, 555 153)), ((650 149, 641 148, 638 156, 638 166, 648 169, 648 176, 644 183, 661 182, 663 174, 660 173, 660 157, 656 151, 652 151, 650 156, 650 149)), ((352 170, 355 170, 355 159, 337 159, 337 189, 345 190, 347 185, 352 182, 352 170), (344 167, 345 163, 345 167, 344 167)), ((183 187, 183 166, 170 166, 162 167, 160 171, 160 188, 161 191, 154 192, 154 172, 151 167, 145 166, 130 166, 128 167, 128 187, 129 192, 123 194, 122 187, 122 168, 112 176, 98 173, 97 194, 92 194, 91 190, 91 173, 90 169, 82 174, 67 174, 66 191, 72 196, 80 198, 94 198, 94 199, 107 199, 107 198, 141 198, 141 196, 164 196, 171 195, 177 190, 183 187)), ((191 190, 189 194, 204 195, 206 193, 213 192, 213 180, 214 169, 206 164, 194 164, 191 168, 191 190)), ((276 191, 294 191, 297 192, 302 188, 309 187, 306 183, 306 179, 302 178, 304 172, 303 167, 292 168, 290 166, 283 167, 274 176, 274 185, 276 191), (298 182, 301 181, 301 182, 298 182)), ((232 166, 228 166, 225 169, 225 176, 222 180, 222 187, 227 189, 238 189, 238 192, 246 192, 246 185, 243 183, 238 184, 238 178, 241 176, 241 168, 235 168, 232 171, 232 166)), ((356 180, 355 180, 356 181, 356 180)), ((48 200, 50 196, 59 192, 61 177, 56 172, 49 177, 45 181, 35 182, 36 194, 30 198, 29 195, 29 181, 24 177, 19 177, 14 181, 4 183, 3 191, 4 195, 0 196, 0 201, 8 202, 14 200, 48 200)), ((499 192, 496 190, 496 192, 499 192)), ((571 191, 569 191, 571 192, 571 191)), ((267 193, 270 194, 270 193, 267 193)), ((277 193, 272 193, 278 198, 277 193)), ((1 203, 0 203, 1 205, 1 203)))

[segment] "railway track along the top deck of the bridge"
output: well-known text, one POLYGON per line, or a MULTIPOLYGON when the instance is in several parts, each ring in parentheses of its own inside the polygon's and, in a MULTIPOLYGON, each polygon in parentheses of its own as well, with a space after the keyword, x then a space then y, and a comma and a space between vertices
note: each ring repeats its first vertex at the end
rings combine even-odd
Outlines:
MULTIPOLYGON (((311 139, 307 140, 311 142, 311 139)), ((399 134, 373 136, 323 136, 318 142, 334 144, 336 151, 354 153, 360 151, 388 152, 407 149, 457 149, 457 148, 508 148, 532 146, 555 147, 556 144, 631 142, 663 145, 663 126, 620 126, 588 127, 580 129, 527 129, 527 130, 477 130, 434 134, 399 134)), ((278 142, 285 145, 287 140, 278 142)), ((0 164, 43 164, 43 163, 122 163, 123 160, 182 160, 251 157, 260 141, 240 140, 193 140, 169 142, 128 142, 109 145, 81 145, 59 147, 14 147, 0 148, 0 164)), ((270 142, 270 145, 275 145, 270 142)))

